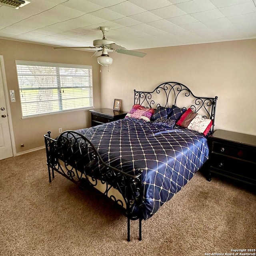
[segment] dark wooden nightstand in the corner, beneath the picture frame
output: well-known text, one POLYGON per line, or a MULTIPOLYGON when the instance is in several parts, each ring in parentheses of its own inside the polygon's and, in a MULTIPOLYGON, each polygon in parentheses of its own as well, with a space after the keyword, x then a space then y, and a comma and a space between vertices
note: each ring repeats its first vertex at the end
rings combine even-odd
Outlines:
POLYGON ((127 112, 113 110, 110 108, 98 108, 89 111, 91 112, 92 126, 122 119, 127 114, 127 112))

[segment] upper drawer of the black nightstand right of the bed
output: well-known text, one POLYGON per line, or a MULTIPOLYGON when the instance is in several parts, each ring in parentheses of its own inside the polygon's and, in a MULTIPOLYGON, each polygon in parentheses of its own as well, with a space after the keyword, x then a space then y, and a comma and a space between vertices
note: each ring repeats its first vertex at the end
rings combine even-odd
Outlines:
POLYGON ((231 156, 250 162, 255 162, 256 150, 244 148, 242 146, 232 146, 224 143, 213 142, 212 153, 231 156))

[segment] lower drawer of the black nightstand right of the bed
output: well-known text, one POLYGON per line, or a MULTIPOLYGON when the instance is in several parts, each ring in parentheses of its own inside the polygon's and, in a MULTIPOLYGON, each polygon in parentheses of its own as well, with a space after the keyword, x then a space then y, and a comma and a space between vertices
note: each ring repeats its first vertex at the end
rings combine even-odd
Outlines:
POLYGON ((256 181, 256 164, 212 154, 211 168, 217 169, 219 173, 239 175, 256 181))

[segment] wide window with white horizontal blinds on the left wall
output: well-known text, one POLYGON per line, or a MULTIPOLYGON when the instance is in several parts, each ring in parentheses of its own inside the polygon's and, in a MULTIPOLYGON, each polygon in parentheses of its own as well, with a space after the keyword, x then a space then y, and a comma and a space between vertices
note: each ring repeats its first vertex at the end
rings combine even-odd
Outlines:
POLYGON ((22 117, 91 108, 92 66, 16 61, 22 117))

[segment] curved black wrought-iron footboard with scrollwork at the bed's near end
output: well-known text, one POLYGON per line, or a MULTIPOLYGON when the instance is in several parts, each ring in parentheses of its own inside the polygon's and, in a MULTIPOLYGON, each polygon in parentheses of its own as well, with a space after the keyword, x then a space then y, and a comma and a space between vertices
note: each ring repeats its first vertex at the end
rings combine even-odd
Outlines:
POLYGON ((65 131, 57 139, 44 135, 49 181, 54 171, 71 180, 81 188, 92 186, 111 198, 127 216, 127 240, 130 241, 130 220, 139 219, 139 239, 142 239, 142 217, 140 211, 132 212, 132 207, 142 204, 141 174, 124 173, 106 164, 96 148, 86 137, 75 131, 65 131), (119 192, 121 198, 112 194, 119 192))

